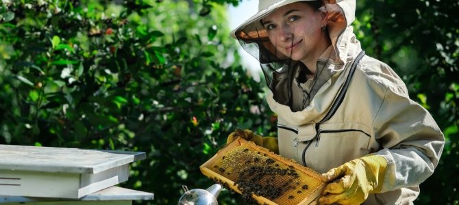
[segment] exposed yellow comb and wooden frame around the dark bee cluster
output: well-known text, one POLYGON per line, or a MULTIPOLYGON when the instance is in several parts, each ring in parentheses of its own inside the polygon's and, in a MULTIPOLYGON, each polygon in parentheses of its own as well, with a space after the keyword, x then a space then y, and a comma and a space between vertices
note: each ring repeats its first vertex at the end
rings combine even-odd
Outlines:
MULTIPOLYGON (((266 148, 257 146, 255 143, 251 141, 246 141, 245 139, 240 137, 238 137, 232 143, 227 144, 227 146, 221 148, 221 150, 219 150, 214 156, 212 156, 212 158, 206 161, 206 163, 203 163, 203 165, 201 165, 199 168, 201 169, 201 172, 208 178, 211 178, 212 180, 219 182, 223 185, 223 187, 226 187, 227 189, 229 188, 233 191, 236 191, 237 193, 242 194, 243 192, 240 189, 238 189, 238 184, 235 184, 235 182, 238 180, 237 178, 243 176, 240 175, 240 173, 242 172, 241 170, 243 170, 241 167, 244 167, 246 164, 246 167, 249 167, 249 165, 253 164, 263 165, 263 163, 266 163, 264 161, 269 160, 272 160, 274 163, 270 163, 276 165, 277 167, 284 167, 285 169, 294 169, 298 176, 295 176, 296 178, 290 176, 288 182, 294 179, 296 186, 294 189, 285 191, 284 193, 282 193, 282 195, 276 197, 273 200, 269 200, 268 197, 263 197, 261 195, 256 195, 252 193, 251 197, 253 198, 253 200, 256 200, 256 202, 258 202, 259 204, 270 205, 317 204, 317 199, 321 195, 323 187, 325 187, 325 182, 323 181, 323 177, 321 176, 321 174, 315 172, 313 169, 303 167, 302 165, 295 163, 295 161, 293 160, 286 159, 278 154, 275 154, 267 150, 266 148), (253 156, 251 157, 252 161, 250 164, 245 163, 245 161, 250 161, 247 160, 247 156, 253 156), (253 159, 258 159, 258 161, 253 159), (231 169, 231 167, 229 167, 228 165, 223 166, 225 161, 228 161, 227 163, 231 163, 230 166, 232 166, 233 169, 231 169), (237 176, 236 174, 239 175, 237 176), (303 185, 303 189, 301 189, 302 184, 305 184, 303 185), (306 190, 304 189, 305 186, 306 190)), ((264 165, 264 167, 266 167, 266 165, 264 165)), ((281 182, 285 183, 286 178, 288 178, 288 176, 277 177, 277 184, 280 184, 281 182)), ((273 179, 274 176, 272 176, 271 180, 273 179)), ((293 186, 291 186, 290 188, 292 187, 293 186)))

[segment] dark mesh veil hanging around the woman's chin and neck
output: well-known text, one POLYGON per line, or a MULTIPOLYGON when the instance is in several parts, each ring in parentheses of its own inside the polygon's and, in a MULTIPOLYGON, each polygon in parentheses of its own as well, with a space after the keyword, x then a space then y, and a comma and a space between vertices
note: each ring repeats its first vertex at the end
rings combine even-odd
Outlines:
POLYGON ((312 75, 301 61, 295 61, 278 51, 260 20, 236 31, 236 38, 243 49, 260 62, 274 100, 290 107, 292 111, 301 111, 310 105, 320 87, 332 77, 332 71, 327 68, 336 60, 332 46, 317 61, 317 70, 312 75))

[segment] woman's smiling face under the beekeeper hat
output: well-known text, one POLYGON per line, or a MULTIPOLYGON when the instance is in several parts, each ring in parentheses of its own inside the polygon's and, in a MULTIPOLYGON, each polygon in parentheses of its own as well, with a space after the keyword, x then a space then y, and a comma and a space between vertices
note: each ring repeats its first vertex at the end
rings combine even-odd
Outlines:
POLYGON ((269 40, 277 51, 303 62, 319 57, 315 56, 314 48, 323 43, 321 38, 325 38, 321 31, 323 22, 321 12, 301 2, 284 5, 262 19, 269 40))

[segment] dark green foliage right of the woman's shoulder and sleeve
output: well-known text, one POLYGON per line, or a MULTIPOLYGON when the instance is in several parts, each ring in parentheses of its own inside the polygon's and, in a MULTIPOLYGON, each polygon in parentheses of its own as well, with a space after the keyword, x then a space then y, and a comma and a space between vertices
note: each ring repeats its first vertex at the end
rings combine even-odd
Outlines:
POLYGON ((358 8, 362 47, 395 69, 445 134, 441 161, 416 204, 459 204, 458 1, 358 1, 358 8))

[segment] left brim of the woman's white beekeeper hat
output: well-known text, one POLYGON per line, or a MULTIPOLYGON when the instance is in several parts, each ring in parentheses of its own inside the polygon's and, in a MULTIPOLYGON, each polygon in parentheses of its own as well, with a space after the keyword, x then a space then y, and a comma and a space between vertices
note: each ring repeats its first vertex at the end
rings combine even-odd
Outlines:
MULTIPOLYGON (((266 1, 266 0, 258 0, 258 1, 266 1)), ((261 25, 260 20, 267 15, 271 14, 277 8, 280 8, 284 5, 295 3, 298 1, 314 1, 314 0, 284 0, 284 1, 277 1, 273 3, 268 8, 258 11, 255 15, 251 16, 247 19, 244 23, 233 29, 229 36, 234 39, 242 39, 242 40, 250 40, 254 38, 265 38, 267 37, 266 32, 260 32, 264 30, 264 27, 261 25)))

